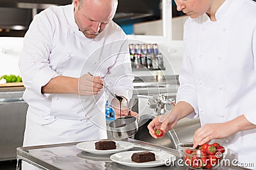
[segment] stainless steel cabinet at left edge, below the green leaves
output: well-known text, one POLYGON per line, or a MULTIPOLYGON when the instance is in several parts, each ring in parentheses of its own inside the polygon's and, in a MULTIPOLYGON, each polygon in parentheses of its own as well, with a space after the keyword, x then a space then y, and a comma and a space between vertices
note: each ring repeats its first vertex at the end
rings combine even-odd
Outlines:
POLYGON ((24 87, 0 87, 0 160, 16 159, 22 146, 28 110, 23 92, 24 87))

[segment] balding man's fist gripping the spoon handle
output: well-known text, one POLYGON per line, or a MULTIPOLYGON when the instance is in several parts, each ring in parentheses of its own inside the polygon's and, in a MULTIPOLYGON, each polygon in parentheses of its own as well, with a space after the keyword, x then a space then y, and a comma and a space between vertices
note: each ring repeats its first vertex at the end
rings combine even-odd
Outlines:
POLYGON ((104 83, 99 76, 91 76, 90 74, 84 74, 79 78, 78 82, 78 94, 81 96, 99 94, 104 83))

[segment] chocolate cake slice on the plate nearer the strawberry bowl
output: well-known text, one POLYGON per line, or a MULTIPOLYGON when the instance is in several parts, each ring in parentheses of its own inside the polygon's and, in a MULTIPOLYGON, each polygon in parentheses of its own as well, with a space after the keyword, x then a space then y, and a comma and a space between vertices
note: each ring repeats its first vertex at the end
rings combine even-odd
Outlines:
POLYGON ((144 151, 144 152, 137 152, 132 154, 132 161, 141 163, 141 162, 149 162, 156 160, 155 153, 144 151))

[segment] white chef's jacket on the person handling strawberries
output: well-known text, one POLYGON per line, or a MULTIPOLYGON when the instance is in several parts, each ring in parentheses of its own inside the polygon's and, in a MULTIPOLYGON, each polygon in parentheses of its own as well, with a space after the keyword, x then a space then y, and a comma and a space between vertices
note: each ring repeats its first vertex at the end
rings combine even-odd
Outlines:
MULTIPOLYGON (((227 122, 239 115, 256 125, 256 4, 226 0, 216 22, 205 14, 184 25, 184 65, 177 102, 195 109, 201 124, 227 122)), ((220 129, 222 131, 223 129, 220 129)), ((256 129, 224 139, 240 162, 256 168, 256 129)))

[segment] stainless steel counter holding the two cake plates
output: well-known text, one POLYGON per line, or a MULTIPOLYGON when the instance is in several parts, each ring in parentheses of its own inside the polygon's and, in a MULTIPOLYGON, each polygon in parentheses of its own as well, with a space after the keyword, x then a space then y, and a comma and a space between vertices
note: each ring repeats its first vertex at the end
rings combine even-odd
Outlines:
MULTIPOLYGON (((155 150, 172 153, 180 159, 177 150, 166 148, 164 146, 157 146, 151 143, 145 143, 135 139, 125 139, 134 145, 131 150, 155 150)), ((17 169, 21 169, 21 160, 25 160, 41 169, 141 169, 129 166, 122 166, 116 162, 112 162, 110 155, 94 155, 76 148, 77 143, 63 143, 58 145, 45 146, 30 146, 17 148, 17 169)), ((172 166, 172 165, 171 165, 172 166)), ((159 166, 154 167, 156 170, 160 169, 189 169, 186 166, 159 166)), ((218 167, 217 169, 242 169, 238 167, 218 167)))

